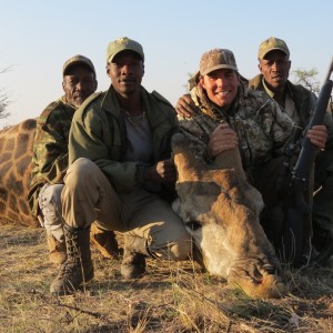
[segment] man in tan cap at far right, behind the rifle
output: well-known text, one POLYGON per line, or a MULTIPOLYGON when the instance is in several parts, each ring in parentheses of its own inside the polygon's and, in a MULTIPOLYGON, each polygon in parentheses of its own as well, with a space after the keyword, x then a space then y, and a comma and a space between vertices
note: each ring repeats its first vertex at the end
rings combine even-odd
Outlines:
MULTIPOLYGON (((301 84, 289 80, 291 60, 290 50, 284 40, 270 37, 264 40, 258 51, 261 73, 250 80, 249 88, 266 92, 301 128, 305 129, 316 97, 301 84)), ((321 264, 326 263, 333 254, 333 124, 332 114, 326 112, 324 124, 329 137, 324 151, 319 151, 314 169, 314 189, 312 208, 312 245, 321 254, 315 258, 321 264), (326 255, 324 255, 327 252, 326 255)))

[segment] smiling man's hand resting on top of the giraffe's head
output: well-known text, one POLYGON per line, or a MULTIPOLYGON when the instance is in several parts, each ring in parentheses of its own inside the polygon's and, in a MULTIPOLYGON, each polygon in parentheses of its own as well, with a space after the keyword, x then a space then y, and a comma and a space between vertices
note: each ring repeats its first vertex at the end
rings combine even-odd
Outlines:
POLYGON ((211 134, 208 144, 208 155, 211 159, 216 158, 223 151, 234 149, 239 144, 238 134, 226 123, 222 123, 215 128, 211 134))

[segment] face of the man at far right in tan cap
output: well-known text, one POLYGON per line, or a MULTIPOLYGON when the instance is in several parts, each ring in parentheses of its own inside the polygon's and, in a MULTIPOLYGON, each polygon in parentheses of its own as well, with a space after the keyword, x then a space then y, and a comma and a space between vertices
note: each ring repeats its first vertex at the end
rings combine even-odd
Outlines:
POLYGON ((272 91, 282 88, 289 78, 291 67, 287 54, 280 50, 274 50, 265 54, 264 59, 260 59, 259 61, 259 69, 268 87, 272 91))

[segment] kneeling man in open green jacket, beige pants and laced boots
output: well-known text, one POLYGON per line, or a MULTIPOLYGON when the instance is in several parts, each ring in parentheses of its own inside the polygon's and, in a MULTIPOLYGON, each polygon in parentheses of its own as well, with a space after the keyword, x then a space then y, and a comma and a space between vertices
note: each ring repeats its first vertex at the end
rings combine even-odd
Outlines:
POLYGON ((141 85, 144 53, 137 41, 124 37, 109 43, 107 73, 109 90, 82 104, 70 132, 62 211, 72 251, 51 284, 58 294, 93 278, 88 234, 95 220, 103 229, 125 232, 124 278, 142 275, 147 255, 185 260, 191 252, 190 235, 168 202, 175 182, 174 109, 141 85))

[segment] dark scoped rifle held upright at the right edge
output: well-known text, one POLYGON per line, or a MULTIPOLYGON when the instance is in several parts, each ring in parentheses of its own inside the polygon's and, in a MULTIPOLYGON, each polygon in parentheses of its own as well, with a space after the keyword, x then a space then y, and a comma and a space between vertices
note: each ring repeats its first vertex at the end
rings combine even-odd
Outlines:
POLYGON ((314 125, 323 124, 326 108, 331 98, 333 82, 330 80, 333 70, 333 58, 325 77, 324 84, 314 107, 312 118, 306 128, 302 142, 301 153, 292 171, 291 181, 287 189, 289 205, 284 216, 284 230, 282 235, 283 256, 293 266, 302 265, 303 255, 303 231, 306 215, 311 214, 310 205, 304 200, 304 193, 315 159, 315 147, 306 138, 306 132, 314 125))

